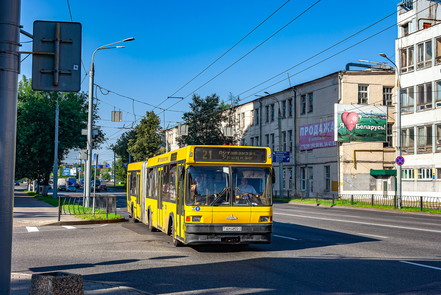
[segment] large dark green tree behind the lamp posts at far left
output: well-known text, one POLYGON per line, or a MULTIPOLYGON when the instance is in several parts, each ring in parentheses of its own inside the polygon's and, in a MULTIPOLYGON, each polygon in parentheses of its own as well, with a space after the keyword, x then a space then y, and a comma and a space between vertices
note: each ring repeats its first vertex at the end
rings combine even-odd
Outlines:
MULTIPOLYGON (((15 178, 43 179, 43 194, 47 195, 49 175, 53 168, 55 142, 55 108, 58 92, 34 91, 31 80, 24 75, 19 82, 17 107, 17 146, 15 155, 15 178), (45 189, 46 187, 46 189, 45 189)), ((64 161, 74 149, 85 149, 87 138, 81 129, 87 127, 87 93, 67 93, 58 99, 58 163, 64 161)), ((98 107, 93 110, 94 120, 98 107)), ((105 134, 98 129, 94 136, 94 148, 99 149, 105 134)), ((54 183, 56 185, 56 183, 54 183)))

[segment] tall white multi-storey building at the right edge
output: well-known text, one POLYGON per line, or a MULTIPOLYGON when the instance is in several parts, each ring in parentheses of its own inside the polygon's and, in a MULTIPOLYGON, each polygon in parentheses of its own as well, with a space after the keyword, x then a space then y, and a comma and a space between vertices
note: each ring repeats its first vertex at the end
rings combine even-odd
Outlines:
POLYGON ((438 197, 441 191, 440 2, 397 6, 403 195, 438 197))

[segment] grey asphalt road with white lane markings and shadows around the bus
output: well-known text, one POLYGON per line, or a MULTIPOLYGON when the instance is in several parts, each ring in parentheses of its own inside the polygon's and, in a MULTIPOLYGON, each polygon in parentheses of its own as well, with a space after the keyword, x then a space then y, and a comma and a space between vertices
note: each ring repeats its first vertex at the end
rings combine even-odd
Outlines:
POLYGON ((154 294, 441 294, 441 216, 274 204, 272 243, 250 246, 175 248, 139 223, 38 230, 14 228, 12 271, 154 294))

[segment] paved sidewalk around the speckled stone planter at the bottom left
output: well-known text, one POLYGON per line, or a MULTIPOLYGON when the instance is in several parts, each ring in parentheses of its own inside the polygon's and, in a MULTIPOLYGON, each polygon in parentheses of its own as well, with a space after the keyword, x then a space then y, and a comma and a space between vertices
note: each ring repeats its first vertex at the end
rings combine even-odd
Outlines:
MULTIPOLYGON (((32 275, 11 273, 11 295, 28 295, 32 275)), ((153 295, 152 293, 113 284, 83 280, 84 295, 153 295)))

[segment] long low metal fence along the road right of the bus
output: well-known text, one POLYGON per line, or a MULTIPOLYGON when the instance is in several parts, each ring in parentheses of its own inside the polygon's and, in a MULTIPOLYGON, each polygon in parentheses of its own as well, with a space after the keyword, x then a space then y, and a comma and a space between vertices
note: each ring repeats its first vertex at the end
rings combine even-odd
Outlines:
POLYGON ((273 199, 305 200, 332 205, 382 205, 407 208, 441 209, 441 197, 391 196, 384 194, 324 194, 273 190, 273 199))

